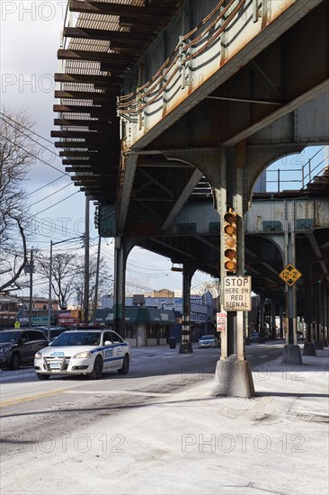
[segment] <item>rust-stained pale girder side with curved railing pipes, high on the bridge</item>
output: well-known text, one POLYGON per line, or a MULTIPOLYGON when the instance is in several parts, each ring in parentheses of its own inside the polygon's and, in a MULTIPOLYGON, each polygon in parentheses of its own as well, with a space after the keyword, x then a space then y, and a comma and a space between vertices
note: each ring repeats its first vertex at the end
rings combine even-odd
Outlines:
POLYGON ((264 19, 270 22, 271 16, 279 15, 273 14, 274 9, 270 13, 266 5, 259 0, 221 0, 194 29, 180 36, 156 74, 135 91, 118 98, 123 146, 131 146, 218 71, 229 58, 228 44, 234 54, 262 31, 264 19), (261 17, 262 23, 258 23, 261 17))

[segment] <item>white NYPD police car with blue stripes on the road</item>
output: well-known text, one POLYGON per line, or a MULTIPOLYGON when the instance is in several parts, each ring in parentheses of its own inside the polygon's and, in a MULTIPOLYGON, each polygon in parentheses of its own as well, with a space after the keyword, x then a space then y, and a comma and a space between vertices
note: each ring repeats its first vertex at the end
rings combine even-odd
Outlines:
POLYGON ((40 380, 61 374, 85 374, 93 380, 102 372, 117 369, 128 374, 130 346, 112 330, 70 330, 34 356, 34 370, 40 380))

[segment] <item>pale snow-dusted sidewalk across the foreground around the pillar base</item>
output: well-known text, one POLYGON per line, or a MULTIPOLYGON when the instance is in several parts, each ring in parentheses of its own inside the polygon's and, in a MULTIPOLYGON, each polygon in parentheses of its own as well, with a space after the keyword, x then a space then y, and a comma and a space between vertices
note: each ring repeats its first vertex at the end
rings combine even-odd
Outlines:
POLYGON ((254 399, 212 397, 208 376, 105 416, 76 430, 89 448, 4 462, 2 494, 327 494, 328 355, 258 367, 254 399))

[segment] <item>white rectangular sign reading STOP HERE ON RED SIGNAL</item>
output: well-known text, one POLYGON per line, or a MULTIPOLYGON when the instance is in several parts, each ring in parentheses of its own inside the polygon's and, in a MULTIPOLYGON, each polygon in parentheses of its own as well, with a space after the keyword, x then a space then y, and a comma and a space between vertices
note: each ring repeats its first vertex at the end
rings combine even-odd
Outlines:
POLYGON ((223 290, 224 311, 252 311, 251 276, 225 276, 223 290))

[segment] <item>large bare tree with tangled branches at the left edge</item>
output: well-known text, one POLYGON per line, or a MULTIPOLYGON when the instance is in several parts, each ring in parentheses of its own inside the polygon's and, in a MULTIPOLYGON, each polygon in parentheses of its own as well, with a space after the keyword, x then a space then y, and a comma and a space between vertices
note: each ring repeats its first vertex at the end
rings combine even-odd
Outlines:
POLYGON ((20 288, 18 280, 27 264, 22 181, 34 162, 33 125, 24 110, 0 112, 0 292, 20 288))

